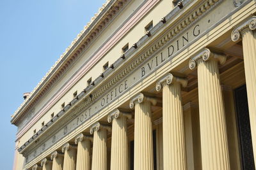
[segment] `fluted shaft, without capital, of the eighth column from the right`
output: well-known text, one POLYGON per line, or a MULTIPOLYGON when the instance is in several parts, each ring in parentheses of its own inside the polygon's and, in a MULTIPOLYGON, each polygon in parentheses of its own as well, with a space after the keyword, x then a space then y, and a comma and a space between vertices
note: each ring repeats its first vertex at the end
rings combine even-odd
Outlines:
POLYGON ((68 148, 64 153, 63 170, 76 169, 76 148, 68 148))

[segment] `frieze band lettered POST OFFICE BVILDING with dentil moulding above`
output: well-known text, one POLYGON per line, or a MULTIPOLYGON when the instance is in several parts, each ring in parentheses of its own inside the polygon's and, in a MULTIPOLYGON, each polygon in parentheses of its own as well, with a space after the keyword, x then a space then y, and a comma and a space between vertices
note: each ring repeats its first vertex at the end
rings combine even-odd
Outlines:
MULTIPOLYGON (((220 3, 222 1, 220 0, 218 2, 220 3)), ((232 2, 225 1, 225 5, 231 4, 232 2)), ((158 41, 156 41, 156 43, 147 50, 147 52, 137 57, 136 60, 120 71, 115 78, 109 80, 108 83, 104 83, 104 87, 99 88, 99 90, 93 93, 91 97, 83 99, 76 107, 71 108, 68 113, 65 113, 65 118, 62 118, 58 122, 58 125, 56 124, 52 126, 50 128, 51 131, 48 129, 44 136, 42 136, 42 138, 44 138, 42 141, 45 143, 45 149, 54 145, 51 139, 52 136, 55 136, 56 138, 55 143, 60 141, 62 138, 67 136, 67 134, 74 131, 74 129, 77 129, 81 124, 90 120, 93 115, 99 113, 103 108, 106 108, 109 103, 118 100, 122 94, 129 91, 134 87, 134 85, 140 83, 140 81, 143 81, 144 78, 156 71, 156 69, 163 66, 166 62, 170 62, 173 57, 187 48, 190 43, 193 43, 193 41, 202 36, 202 34, 205 34, 209 27, 216 23, 209 22, 209 20, 220 20, 230 13, 228 10, 225 11, 225 5, 223 5, 221 8, 225 12, 218 13, 218 15, 214 16, 207 15, 204 17, 204 15, 207 14, 206 11, 212 9, 214 5, 216 5, 214 1, 207 1, 200 4, 200 12, 196 10, 191 15, 188 15, 185 20, 180 22, 180 24, 177 24, 175 27, 171 27, 168 32, 166 32, 165 36, 158 39, 158 41), (64 127, 66 126, 67 134, 63 135, 64 127), (51 134, 51 132, 56 133, 51 134), (48 139, 45 139, 45 136, 48 139)), ((168 22, 168 17, 165 18, 166 22, 168 22)), ((152 33, 153 36, 154 32, 152 33)), ((40 147, 42 146, 31 146, 31 150, 35 150, 40 147)), ((31 153, 26 153, 26 155, 27 154, 28 162, 35 158, 31 153)), ((40 153, 38 153, 38 155, 39 154, 40 153)))

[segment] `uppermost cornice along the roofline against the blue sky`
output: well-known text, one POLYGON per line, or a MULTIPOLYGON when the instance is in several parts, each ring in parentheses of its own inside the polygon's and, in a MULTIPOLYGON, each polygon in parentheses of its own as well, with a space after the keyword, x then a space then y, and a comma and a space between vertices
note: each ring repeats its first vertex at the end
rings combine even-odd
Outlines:
POLYGON ((130 0, 107 0, 98 13, 92 17, 84 29, 79 32, 77 38, 72 41, 71 45, 60 56, 47 74, 36 85, 35 89, 30 93, 26 100, 19 106, 19 108, 12 115, 11 123, 15 124, 22 113, 31 110, 35 103, 51 89, 52 85, 59 80, 61 75, 74 63, 74 61, 84 52, 92 43, 109 21, 117 14, 117 11, 124 7, 124 4, 130 0))

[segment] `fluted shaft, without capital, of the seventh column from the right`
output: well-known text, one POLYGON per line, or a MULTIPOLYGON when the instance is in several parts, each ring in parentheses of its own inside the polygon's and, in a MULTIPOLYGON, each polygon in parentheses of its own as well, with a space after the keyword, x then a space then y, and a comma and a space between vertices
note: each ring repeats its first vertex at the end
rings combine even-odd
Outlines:
POLYGON ((90 152, 90 140, 78 141, 76 170, 90 170, 90 152))

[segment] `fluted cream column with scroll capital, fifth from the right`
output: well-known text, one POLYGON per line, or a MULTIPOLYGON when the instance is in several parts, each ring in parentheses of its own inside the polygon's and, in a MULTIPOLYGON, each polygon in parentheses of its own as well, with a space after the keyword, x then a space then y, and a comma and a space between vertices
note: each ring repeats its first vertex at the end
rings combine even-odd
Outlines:
POLYGON ((128 170, 128 140, 127 118, 131 114, 114 110, 108 115, 108 122, 112 122, 111 138, 111 170, 128 170))

